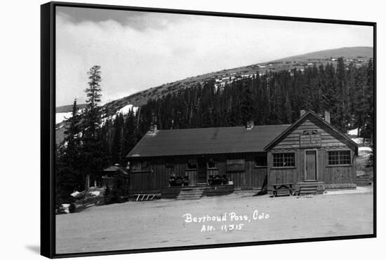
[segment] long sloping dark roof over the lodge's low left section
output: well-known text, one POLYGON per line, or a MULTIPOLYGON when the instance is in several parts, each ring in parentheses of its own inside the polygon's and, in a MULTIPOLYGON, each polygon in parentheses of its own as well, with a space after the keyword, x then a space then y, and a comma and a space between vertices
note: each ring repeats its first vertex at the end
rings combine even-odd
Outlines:
POLYGON ((147 132, 126 157, 259 152, 289 126, 157 130, 155 134, 147 132))

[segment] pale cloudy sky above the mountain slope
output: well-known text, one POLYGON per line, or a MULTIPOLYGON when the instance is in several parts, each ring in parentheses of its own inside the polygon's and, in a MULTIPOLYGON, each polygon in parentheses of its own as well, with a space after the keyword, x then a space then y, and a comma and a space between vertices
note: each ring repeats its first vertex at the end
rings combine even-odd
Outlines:
POLYGON ((332 48, 373 46, 373 28, 56 7, 56 106, 85 102, 100 65, 102 103, 189 76, 332 48))

